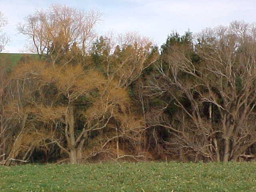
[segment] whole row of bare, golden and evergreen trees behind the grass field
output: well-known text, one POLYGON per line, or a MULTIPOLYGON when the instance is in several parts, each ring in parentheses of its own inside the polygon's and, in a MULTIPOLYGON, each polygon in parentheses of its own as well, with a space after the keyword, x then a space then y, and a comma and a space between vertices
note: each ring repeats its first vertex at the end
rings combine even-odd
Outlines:
POLYGON ((172 33, 159 49, 98 36, 101 17, 53 5, 20 23, 38 57, 0 61, 1 164, 254 158, 255 24, 172 33))

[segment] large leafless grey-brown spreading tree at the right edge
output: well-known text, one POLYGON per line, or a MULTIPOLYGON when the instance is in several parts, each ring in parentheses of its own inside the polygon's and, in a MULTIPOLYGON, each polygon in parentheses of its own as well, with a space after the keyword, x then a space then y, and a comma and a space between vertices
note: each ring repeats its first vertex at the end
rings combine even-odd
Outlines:
POLYGON ((232 22, 206 29, 198 42, 174 43, 148 88, 169 95, 152 124, 170 132, 168 143, 211 161, 250 157, 256 142, 256 28, 232 22), (179 108, 169 118, 164 110, 179 108))

